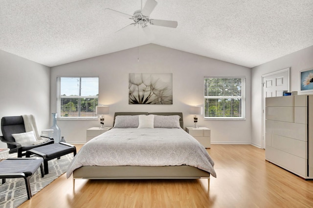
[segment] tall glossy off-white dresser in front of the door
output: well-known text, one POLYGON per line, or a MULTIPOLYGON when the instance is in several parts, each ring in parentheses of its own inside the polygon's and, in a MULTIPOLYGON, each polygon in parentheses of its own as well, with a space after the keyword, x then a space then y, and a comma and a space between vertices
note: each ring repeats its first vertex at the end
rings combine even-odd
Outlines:
POLYGON ((266 98, 266 160, 313 179, 310 130, 313 132, 313 95, 266 98))

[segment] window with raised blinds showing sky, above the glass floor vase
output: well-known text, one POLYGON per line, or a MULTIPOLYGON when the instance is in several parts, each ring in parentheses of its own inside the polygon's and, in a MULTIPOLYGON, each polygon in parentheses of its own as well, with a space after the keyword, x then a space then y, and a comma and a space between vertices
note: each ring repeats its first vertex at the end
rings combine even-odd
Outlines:
POLYGON ((58 77, 57 113, 63 119, 96 118, 98 77, 58 77))

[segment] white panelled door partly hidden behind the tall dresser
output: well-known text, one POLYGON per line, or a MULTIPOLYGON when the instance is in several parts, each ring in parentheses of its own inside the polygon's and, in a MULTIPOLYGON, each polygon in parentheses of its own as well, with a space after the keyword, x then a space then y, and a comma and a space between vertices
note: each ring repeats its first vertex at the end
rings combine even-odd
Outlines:
POLYGON ((290 91, 290 68, 282 69, 262 76, 262 146, 265 149, 265 98, 283 96, 283 91, 290 91))

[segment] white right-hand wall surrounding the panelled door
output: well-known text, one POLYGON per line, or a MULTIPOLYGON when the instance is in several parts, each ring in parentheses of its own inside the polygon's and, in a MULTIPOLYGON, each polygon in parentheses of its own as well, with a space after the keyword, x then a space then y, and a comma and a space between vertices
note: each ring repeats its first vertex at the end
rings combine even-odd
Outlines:
MULTIPOLYGON (((251 71, 251 115, 252 115, 252 139, 255 146, 262 146, 262 104, 261 104, 261 77, 270 72, 278 71, 290 67, 291 91, 300 93, 300 71, 313 69, 313 46, 291 53, 287 56, 264 63, 252 68, 251 71)), ((312 92, 306 94, 313 94, 312 92)))

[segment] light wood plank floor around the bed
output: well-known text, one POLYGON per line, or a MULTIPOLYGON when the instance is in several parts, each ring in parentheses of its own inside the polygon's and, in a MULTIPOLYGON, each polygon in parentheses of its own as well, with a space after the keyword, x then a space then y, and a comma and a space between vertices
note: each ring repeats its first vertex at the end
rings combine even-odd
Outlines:
MULTIPOLYGON (((79 149, 81 145, 78 145, 79 149)), ((217 178, 76 180, 65 174, 21 208, 312 208, 313 181, 265 161, 251 145, 212 145, 217 178)))

